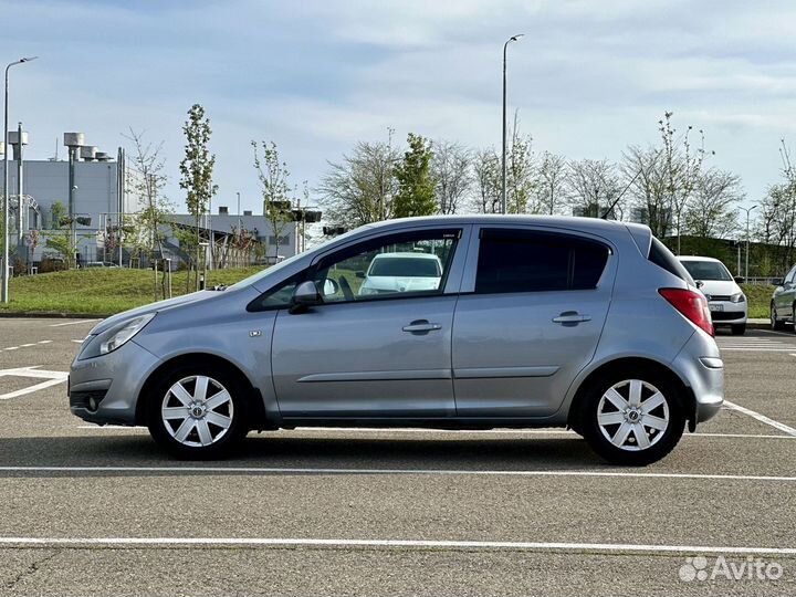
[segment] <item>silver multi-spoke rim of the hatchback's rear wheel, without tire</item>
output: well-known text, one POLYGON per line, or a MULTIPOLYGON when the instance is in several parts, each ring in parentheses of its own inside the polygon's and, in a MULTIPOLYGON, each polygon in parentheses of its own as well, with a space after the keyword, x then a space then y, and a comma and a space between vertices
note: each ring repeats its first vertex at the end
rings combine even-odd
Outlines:
POLYGON ((669 427, 669 402, 649 381, 626 379, 608 388, 597 406, 597 425, 616 448, 640 451, 654 446, 669 427))

